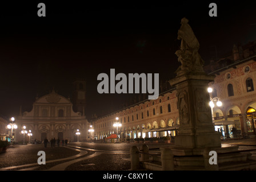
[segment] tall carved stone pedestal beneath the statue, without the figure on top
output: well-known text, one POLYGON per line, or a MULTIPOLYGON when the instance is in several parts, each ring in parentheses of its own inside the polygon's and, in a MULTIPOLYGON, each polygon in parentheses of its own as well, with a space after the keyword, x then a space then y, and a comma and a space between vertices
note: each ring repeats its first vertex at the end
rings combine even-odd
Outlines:
POLYGON ((175 137, 177 148, 221 147, 219 133, 214 130, 207 85, 214 81, 203 72, 179 75, 170 80, 176 86, 179 109, 179 129, 175 137))

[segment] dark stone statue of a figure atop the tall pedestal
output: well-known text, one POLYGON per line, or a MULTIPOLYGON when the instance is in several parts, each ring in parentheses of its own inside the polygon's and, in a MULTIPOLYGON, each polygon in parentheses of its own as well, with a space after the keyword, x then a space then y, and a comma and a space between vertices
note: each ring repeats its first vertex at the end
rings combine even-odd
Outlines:
POLYGON ((178 30, 178 40, 181 40, 181 47, 175 52, 181 62, 177 70, 178 75, 203 72, 204 61, 198 53, 199 42, 188 22, 189 20, 182 18, 181 28, 178 30))

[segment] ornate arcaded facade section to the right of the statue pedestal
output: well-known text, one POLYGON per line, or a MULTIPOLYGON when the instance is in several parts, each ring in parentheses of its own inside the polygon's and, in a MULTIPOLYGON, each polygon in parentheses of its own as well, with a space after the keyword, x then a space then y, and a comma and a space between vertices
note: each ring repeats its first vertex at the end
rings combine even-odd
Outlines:
POLYGON ((233 127, 243 137, 256 134, 256 42, 233 47, 233 54, 211 61, 205 69, 215 75, 211 98, 218 97, 221 107, 214 107, 215 129, 223 130, 223 137, 234 137, 233 127))

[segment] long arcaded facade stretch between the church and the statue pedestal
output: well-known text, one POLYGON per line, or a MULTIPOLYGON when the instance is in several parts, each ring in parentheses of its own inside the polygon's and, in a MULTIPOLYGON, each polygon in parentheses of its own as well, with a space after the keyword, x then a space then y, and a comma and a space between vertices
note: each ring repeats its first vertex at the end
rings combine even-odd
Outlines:
POLYGON ((157 100, 145 100, 93 121, 94 138, 111 134, 119 138, 152 138, 175 136, 179 127, 177 97, 174 89, 159 95, 157 100), (118 117, 118 120, 117 120, 118 117), (114 127, 114 123, 122 126, 114 127))

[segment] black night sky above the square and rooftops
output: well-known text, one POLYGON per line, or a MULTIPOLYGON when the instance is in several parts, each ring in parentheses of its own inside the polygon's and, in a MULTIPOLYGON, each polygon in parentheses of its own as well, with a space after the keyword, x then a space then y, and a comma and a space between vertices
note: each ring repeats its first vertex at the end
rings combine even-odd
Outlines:
POLYGON ((228 56, 233 44, 256 40, 255 3, 211 1, 168 4, 102 4, 45 2, 46 17, 37 16, 39 2, 0 5, 0 114, 9 118, 30 111, 35 97, 53 87, 71 97, 76 78, 87 80, 87 115, 121 109, 132 94, 98 94, 99 73, 159 73, 175 76, 174 52, 181 18, 197 36, 206 64, 228 56), (217 54, 215 52, 217 48, 217 54))

